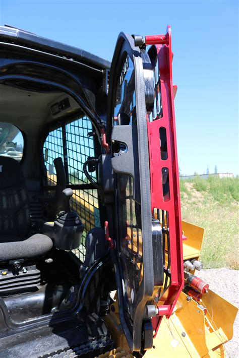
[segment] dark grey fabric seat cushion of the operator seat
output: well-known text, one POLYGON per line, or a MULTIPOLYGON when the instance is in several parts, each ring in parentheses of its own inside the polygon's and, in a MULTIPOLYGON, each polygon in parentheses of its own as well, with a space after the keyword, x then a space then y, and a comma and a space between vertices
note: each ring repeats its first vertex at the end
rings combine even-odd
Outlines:
POLYGON ((0 261, 41 257, 50 251, 52 245, 52 240, 40 233, 21 238, 21 241, 16 236, 0 235, 0 261))

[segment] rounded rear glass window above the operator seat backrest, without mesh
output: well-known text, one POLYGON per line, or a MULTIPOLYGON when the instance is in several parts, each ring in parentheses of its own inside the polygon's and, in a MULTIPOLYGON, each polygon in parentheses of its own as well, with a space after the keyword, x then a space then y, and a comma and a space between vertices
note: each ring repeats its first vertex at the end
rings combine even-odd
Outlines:
POLYGON ((23 135, 10 123, 0 122, 0 155, 21 161, 23 153, 23 135))

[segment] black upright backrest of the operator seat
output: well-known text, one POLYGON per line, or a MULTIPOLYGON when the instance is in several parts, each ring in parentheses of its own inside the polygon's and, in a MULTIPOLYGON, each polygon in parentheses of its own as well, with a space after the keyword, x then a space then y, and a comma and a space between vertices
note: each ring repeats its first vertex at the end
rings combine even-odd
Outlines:
POLYGON ((27 188, 20 164, 0 156, 0 233, 27 236, 30 211, 27 188))

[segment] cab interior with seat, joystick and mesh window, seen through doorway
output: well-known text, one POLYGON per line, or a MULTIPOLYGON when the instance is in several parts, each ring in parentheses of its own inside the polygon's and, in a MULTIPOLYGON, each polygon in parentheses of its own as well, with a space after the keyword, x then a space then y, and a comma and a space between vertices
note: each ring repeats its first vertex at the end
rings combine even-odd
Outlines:
POLYGON ((115 283, 104 210, 84 172, 101 154, 92 121, 68 93, 40 83, 1 83, 0 112, 0 321, 58 327, 68 346, 107 336, 100 317, 115 283), (81 319, 84 339, 66 330, 76 321, 82 330, 81 319))

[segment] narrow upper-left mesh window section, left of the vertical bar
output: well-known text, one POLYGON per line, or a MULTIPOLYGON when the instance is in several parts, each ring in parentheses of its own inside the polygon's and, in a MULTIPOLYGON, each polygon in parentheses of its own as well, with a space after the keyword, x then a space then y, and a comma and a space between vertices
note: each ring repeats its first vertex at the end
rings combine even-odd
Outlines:
POLYGON ((45 159, 47 157, 47 160, 45 160, 45 166, 47 171, 47 184, 56 185, 56 172, 55 167, 53 165, 53 160, 58 157, 61 157, 62 160, 64 160, 62 128, 57 128, 48 134, 44 143, 43 153, 45 159))

